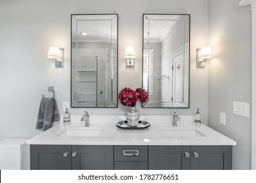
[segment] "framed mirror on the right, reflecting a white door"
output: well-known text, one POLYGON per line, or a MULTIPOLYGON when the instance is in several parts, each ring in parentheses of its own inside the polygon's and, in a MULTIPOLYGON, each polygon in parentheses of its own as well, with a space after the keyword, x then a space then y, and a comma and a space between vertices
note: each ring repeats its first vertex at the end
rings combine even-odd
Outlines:
POLYGON ((142 107, 188 108, 190 15, 143 14, 142 107))

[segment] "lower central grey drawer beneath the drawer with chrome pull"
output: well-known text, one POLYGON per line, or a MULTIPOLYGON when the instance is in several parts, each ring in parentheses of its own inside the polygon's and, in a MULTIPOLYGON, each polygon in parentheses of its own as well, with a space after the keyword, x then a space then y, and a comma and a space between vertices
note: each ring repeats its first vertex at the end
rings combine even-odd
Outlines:
POLYGON ((129 161, 115 161, 115 170, 147 170, 148 162, 129 162, 129 161))

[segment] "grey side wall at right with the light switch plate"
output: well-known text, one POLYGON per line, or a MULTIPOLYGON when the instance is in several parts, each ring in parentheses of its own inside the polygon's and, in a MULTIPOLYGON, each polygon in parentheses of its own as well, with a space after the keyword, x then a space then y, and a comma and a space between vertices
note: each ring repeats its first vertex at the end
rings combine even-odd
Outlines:
POLYGON ((251 118, 232 114, 232 101, 251 104, 251 12, 240 0, 209 0, 208 125, 234 139, 233 168, 251 168, 251 118), (226 113, 226 125, 219 123, 226 113))

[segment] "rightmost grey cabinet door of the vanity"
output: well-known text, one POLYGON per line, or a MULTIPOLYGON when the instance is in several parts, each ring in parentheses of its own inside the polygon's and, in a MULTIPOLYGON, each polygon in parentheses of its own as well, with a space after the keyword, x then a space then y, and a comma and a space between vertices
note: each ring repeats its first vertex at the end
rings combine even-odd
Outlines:
POLYGON ((232 146, 191 146, 190 169, 232 169, 232 146))

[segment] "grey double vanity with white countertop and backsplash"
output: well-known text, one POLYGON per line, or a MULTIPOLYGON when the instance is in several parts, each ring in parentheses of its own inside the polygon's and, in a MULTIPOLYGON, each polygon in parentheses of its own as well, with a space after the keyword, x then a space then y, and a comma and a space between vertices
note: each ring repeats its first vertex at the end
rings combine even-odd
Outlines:
POLYGON ((91 125, 72 116, 29 141, 31 169, 232 169, 235 141, 194 116, 141 116, 145 129, 121 129, 125 116, 90 116, 91 125))

